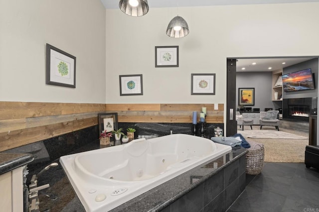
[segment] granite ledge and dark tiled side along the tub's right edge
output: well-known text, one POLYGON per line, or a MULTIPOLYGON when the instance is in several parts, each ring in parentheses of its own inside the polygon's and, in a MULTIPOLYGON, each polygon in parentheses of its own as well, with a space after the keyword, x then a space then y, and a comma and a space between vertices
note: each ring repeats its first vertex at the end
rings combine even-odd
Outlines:
POLYGON ((246 152, 233 148, 111 212, 226 211, 245 189, 246 152))

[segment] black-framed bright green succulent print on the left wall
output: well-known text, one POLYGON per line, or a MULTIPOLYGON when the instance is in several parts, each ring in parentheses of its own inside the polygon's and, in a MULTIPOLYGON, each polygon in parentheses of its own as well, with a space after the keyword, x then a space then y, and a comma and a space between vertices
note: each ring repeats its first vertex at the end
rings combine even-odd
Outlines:
POLYGON ((47 85, 75 88, 76 57, 46 44, 47 85))

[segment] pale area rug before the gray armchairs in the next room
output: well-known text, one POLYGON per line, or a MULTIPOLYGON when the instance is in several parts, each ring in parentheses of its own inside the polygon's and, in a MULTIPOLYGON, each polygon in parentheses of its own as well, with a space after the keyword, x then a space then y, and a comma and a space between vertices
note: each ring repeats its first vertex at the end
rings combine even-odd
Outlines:
POLYGON ((295 135, 289 132, 277 131, 277 130, 238 130, 238 133, 242 134, 246 138, 271 138, 271 139, 308 139, 308 137, 295 135))

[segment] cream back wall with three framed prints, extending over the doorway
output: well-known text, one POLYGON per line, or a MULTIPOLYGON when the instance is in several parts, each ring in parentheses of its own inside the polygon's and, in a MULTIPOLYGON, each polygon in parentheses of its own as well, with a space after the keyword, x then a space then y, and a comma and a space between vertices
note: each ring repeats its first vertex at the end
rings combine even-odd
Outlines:
POLYGON ((179 7, 190 33, 165 34, 177 8, 142 17, 106 11, 107 103, 224 103, 226 58, 319 55, 319 3, 179 7), (155 46, 179 46, 178 68, 155 68, 155 46), (216 95, 190 95, 191 73, 216 73, 216 95), (120 96, 119 75, 143 74, 143 96, 120 96))

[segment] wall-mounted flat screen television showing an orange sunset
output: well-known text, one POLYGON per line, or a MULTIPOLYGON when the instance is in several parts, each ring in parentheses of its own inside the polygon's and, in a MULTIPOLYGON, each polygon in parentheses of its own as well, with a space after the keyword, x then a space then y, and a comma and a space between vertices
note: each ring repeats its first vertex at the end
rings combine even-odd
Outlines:
POLYGON ((285 92, 315 89, 311 69, 305 69, 282 76, 285 92))

